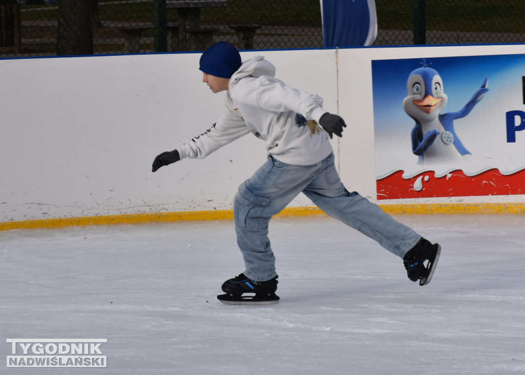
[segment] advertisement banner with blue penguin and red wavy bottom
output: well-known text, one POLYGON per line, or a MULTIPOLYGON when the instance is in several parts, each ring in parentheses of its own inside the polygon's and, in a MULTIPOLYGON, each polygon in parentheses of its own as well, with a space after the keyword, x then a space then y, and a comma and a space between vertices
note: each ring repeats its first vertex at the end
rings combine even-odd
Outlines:
POLYGON ((373 60, 377 199, 525 194, 525 55, 373 60))

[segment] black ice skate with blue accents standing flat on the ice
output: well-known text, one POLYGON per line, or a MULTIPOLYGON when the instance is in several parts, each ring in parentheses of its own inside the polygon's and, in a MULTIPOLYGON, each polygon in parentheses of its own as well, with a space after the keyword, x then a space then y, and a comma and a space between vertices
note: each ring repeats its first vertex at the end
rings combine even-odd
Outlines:
POLYGON ((270 305, 279 302, 277 291, 277 277, 268 281, 253 281, 241 273, 235 278, 224 282, 222 290, 226 294, 217 296, 217 299, 227 305, 270 305), (249 293, 248 295, 244 295, 249 293))

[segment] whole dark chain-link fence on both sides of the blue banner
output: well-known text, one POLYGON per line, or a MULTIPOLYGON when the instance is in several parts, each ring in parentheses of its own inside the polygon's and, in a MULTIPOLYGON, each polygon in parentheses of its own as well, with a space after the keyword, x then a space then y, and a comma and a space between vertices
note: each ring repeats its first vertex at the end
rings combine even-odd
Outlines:
MULTIPOLYGON (((4 58, 203 50, 220 40, 240 49, 323 47, 319 0, 16 1, 0 0, 4 58), (89 27, 64 22, 79 4, 86 7, 74 20, 89 27), (87 35, 91 49, 64 52, 64 34, 87 35)), ((523 0, 376 0, 376 9, 378 46, 525 42, 523 0)))

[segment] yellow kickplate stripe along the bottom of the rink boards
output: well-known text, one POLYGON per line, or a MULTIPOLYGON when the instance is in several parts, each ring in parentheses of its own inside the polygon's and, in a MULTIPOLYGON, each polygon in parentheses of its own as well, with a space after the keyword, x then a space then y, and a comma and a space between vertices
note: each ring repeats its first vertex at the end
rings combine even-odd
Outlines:
MULTIPOLYGON (((465 203, 465 204, 411 204, 411 205, 380 205, 383 211, 392 215, 423 215, 428 213, 524 213, 525 204, 521 203, 465 203)), ((290 216, 320 216, 326 215, 317 207, 285 208, 279 217, 290 216)), ((43 229, 72 226, 131 224, 167 221, 199 221, 199 220, 232 220, 233 210, 188 211, 168 213, 137 213, 133 215, 91 216, 63 219, 42 219, 27 221, 0 222, 0 231, 10 229, 43 229)))

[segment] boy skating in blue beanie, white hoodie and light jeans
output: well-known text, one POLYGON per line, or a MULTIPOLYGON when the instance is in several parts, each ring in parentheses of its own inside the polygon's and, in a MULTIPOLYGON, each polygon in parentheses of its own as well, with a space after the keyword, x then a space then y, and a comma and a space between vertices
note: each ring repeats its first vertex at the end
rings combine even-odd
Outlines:
POLYGON ((290 88, 276 79, 275 67, 261 56, 241 62, 237 49, 227 42, 204 51, 199 69, 213 93, 227 91, 222 114, 204 134, 155 157, 152 171, 187 157, 206 157, 248 133, 264 141, 268 151, 266 163, 239 186, 235 196, 237 244, 246 270, 224 282, 225 294, 217 296, 221 302, 279 301, 268 223, 300 192, 328 215, 400 256, 410 280, 420 285, 430 282, 440 246, 357 192, 345 189, 334 166, 329 138, 333 134, 341 137, 346 124, 322 108, 319 95, 290 88))

